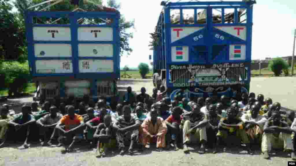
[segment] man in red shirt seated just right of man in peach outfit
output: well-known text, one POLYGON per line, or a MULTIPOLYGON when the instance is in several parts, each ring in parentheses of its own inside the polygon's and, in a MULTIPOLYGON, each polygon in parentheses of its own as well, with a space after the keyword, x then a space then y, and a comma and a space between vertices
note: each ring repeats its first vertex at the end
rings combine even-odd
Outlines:
POLYGON ((170 148, 170 142, 173 140, 175 150, 179 150, 177 144, 179 144, 181 140, 181 131, 179 127, 182 120, 181 113, 182 113, 181 107, 174 107, 172 109, 172 115, 170 115, 165 120, 165 124, 168 128, 168 132, 165 135, 167 149, 170 148))

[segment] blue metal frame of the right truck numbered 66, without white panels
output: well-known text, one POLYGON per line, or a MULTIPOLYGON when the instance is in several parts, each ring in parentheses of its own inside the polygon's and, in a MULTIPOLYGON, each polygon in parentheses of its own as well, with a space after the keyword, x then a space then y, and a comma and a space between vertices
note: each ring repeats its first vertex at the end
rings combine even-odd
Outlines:
MULTIPOLYGON (((252 5, 255 4, 255 1, 249 1, 249 2, 242 2, 242 1, 232 1, 232 2, 226 2, 226 1, 216 1, 216 2, 169 2, 164 7, 164 25, 165 25, 165 32, 161 32, 161 38, 159 45, 165 45, 165 50, 159 51, 159 47, 155 47, 156 50, 154 50, 154 62, 156 64, 154 67, 156 70, 160 69, 169 69, 170 65, 186 65, 186 64, 219 64, 219 63, 247 63, 246 66, 249 67, 249 63, 251 62, 251 44, 252 44, 252 14, 253 14, 253 7, 252 5), (239 23, 238 22, 238 9, 245 8, 246 14, 247 14, 247 22, 246 23, 239 23), (179 9, 180 10, 180 24, 171 24, 170 23, 170 10, 172 9, 179 9), (192 9, 194 10, 194 24, 191 25, 185 25, 183 24, 183 9, 192 9), (207 19, 206 24, 197 24, 197 9, 207 9, 207 19), (222 17, 222 23, 213 23, 212 22, 212 12, 213 9, 222 9, 221 15, 225 15, 225 9, 234 9, 234 23, 224 23, 224 17, 222 17), (247 38, 246 40, 241 40, 240 38, 236 38, 232 35, 227 34, 226 32, 223 32, 221 30, 218 30, 215 28, 215 26, 245 26, 247 28, 247 38), (183 39, 177 40, 173 43, 171 43, 171 27, 205 27, 202 30, 199 30, 197 32, 194 32, 191 34, 192 36, 195 36, 197 34, 204 34, 205 37, 203 40, 201 40, 200 43, 193 44, 193 40, 189 40, 189 37, 185 37, 183 39), (221 35, 224 35, 225 37, 229 36, 229 40, 215 40, 214 33, 218 32, 221 35), (229 60, 229 45, 231 44, 244 44, 246 45, 246 59, 245 60, 235 60, 230 61, 229 60), (207 46, 207 53, 208 57, 205 62, 193 62, 190 58, 189 53, 189 62, 172 62, 171 61, 171 47, 172 46, 188 46, 189 50, 193 48, 193 46, 196 45, 204 45, 207 46), (215 60, 212 60, 212 47, 213 45, 226 45, 226 56, 223 58, 218 58, 215 60), (156 54, 156 55, 155 55, 156 54), (159 65, 159 61, 163 60, 163 57, 165 57, 166 65, 163 67, 162 65, 159 65), (156 58, 156 59, 155 59, 156 58)), ((159 20, 157 22, 157 27, 162 26, 162 19, 161 19, 162 13, 160 14, 159 20)), ((189 35, 190 36, 190 35, 189 35)), ((248 78, 246 81, 244 81, 246 84, 250 83, 250 67, 248 68, 248 78)), ((169 72, 167 70, 166 72, 166 78, 169 78, 169 72)), ((168 87, 168 92, 170 93, 174 89, 178 89, 176 87, 173 87, 173 83, 169 82, 169 79, 166 80, 166 85, 168 87)), ((228 92, 227 92, 228 93, 228 92)))

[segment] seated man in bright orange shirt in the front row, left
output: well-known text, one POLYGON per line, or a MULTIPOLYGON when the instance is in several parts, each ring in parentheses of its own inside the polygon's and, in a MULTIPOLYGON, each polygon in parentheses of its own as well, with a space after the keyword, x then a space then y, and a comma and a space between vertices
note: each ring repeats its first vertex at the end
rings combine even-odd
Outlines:
POLYGON ((71 151, 73 144, 83 139, 85 127, 82 116, 74 113, 75 108, 72 105, 68 107, 67 111, 68 115, 63 116, 56 127, 62 135, 58 141, 65 147, 62 152, 71 151))

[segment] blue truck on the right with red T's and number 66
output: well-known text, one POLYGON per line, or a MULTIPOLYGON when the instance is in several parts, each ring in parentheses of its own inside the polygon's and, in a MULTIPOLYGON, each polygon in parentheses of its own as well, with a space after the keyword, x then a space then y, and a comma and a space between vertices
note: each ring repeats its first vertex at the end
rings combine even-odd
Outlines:
POLYGON ((170 98, 249 92, 256 1, 163 1, 153 38, 153 83, 170 98))

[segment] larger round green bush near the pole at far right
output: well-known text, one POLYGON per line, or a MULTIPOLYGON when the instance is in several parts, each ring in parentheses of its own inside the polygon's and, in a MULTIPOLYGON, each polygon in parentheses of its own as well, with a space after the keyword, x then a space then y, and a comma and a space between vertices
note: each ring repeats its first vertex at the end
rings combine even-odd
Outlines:
POLYGON ((277 77, 282 73, 282 71, 289 69, 289 64, 287 64, 287 62, 284 61, 282 58, 274 58, 269 61, 268 67, 272 72, 274 72, 274 75, 277 77))

